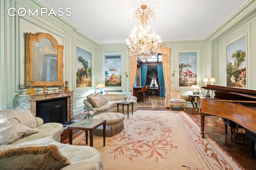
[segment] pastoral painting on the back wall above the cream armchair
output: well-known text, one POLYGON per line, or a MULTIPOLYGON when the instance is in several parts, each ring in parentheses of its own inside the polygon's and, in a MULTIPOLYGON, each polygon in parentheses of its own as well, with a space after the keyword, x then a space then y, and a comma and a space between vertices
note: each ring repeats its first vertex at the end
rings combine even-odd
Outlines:
POLYGON ((197 84, 197 52, 179 52, 179 87, 197 84))

